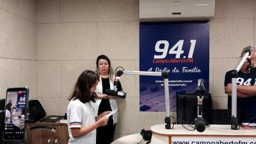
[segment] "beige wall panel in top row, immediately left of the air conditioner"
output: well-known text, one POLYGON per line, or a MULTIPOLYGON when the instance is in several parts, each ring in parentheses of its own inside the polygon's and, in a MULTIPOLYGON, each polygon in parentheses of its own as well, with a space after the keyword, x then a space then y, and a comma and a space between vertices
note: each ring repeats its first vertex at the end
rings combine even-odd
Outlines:
POLYGON ((134 0, 61 0, 61 22, 134 21, 134 0))

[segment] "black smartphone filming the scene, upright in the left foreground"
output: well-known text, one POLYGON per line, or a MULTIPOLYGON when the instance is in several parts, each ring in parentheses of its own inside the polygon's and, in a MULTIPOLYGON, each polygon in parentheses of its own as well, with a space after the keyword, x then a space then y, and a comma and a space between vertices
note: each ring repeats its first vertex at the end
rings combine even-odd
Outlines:
POLYGON ((24 139, 27 95, 27 90, 6 92, 4 140, 24 139))

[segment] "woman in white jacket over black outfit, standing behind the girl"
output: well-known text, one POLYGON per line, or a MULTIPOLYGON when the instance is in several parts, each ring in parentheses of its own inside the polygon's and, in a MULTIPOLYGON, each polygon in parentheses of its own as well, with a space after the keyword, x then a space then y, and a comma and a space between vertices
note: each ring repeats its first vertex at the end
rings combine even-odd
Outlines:
MULTIPOLYGON (((97 74, 100 77, 100 81, 97 85, 97 99, 92 104, 95 113, 100 115, 104 111, 113 111, 117 109, 116 100, 111 95, 106 95, 105 90, 113 90, 113 70, 111 68, 110 60, 105 55, 100 55, 96 61, 97 74)), ((120 83, 117 84, 118 91, 122 91, 120 83)), ((117 122, 117 113, 109 116, 109 121, 106 126, 97 128, 97 144, 108 144, 113 142, 115 134, 115 126, 117 122)))

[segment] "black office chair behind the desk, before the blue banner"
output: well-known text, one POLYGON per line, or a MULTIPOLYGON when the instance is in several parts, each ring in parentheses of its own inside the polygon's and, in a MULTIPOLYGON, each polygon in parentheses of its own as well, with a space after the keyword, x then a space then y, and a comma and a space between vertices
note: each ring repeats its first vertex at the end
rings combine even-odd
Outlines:
MULTIPOLYGON (((194 124, 197 116, 197 95, 195 93, 177 94, 177 118, 188 124, 194 124)), ((212 109, 211 93, 205 93, 203 99, 203 116, 207 122, 210 119, 212 109)), ((177 124, 180 124, 177 121, 177 124)))

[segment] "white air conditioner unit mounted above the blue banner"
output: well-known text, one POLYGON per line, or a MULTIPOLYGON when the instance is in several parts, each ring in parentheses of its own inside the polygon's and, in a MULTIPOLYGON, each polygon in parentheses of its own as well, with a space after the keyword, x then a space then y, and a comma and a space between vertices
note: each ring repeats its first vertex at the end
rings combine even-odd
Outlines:
POLYGON ((140 0, 140 22, 210 20, 215 0, 140 0))

